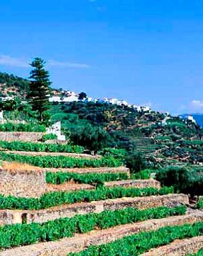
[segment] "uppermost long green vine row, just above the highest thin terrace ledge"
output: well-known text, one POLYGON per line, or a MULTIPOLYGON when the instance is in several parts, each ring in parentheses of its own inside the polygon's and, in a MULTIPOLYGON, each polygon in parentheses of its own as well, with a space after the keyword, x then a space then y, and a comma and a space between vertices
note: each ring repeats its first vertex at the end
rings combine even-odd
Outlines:
MULTIPOLYGON (((49 135, 49 134, 48 134, 49 135)), ((51 134, 50 134, 51 135, 51 134)), ((47 137, 43 137, 47 140, 47 137)), ((50 139, 50 137, 49 137, 50 139)), ((60 145, 60 144, 46 144, 46 143, 32 143, 22 141, 0 141, 0 148, 16 151, 31 151, 31 152, 58 152, 58 153, 83 153, 84 149, 77 145, 60 145)))

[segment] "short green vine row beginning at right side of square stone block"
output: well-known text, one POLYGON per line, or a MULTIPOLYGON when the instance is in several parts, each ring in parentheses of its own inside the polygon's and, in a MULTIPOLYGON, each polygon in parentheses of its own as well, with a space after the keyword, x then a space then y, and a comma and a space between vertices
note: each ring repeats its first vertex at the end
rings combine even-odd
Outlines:
POLYGON ((68 172, 47 172, 46 182, 53 184, 63 184, 67 181, 75 181, 77 183, 101 186, 106 181, 127 180, 126 173, 68 173, 68 172))

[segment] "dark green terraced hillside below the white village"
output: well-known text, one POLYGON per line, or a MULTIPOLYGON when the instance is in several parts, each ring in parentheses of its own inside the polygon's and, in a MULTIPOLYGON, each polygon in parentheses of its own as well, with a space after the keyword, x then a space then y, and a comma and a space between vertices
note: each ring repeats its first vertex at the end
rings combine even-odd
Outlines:
POLYGON ((108 147, 134 149, 163 164, 203 162, 203 130, 198 124, 179 117, 92 102, 55 105, 52 117, 60 119, 70 138, 81 146, 87 146, 80 138, 81 131, 87 131, 91 125, 107 132, 108 147))

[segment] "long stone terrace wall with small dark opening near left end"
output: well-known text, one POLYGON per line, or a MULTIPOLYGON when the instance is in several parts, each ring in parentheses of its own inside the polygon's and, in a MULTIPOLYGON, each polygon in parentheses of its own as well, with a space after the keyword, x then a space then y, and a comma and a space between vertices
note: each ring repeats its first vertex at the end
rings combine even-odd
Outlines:
POLYGON ((126 207, 146 210, 160 206, 175 207, 185 204, 189 204, 187 195, 171 194, 134 198, 123 197, 90 203, 74 203, 43 210, 0 210, 0 226, 22 223, 22 220, 26 220, 27 223, 42 223, 60 218, 74 217, 77 214, 101 213, 106 210, 115 211, 125 209, 126 207))

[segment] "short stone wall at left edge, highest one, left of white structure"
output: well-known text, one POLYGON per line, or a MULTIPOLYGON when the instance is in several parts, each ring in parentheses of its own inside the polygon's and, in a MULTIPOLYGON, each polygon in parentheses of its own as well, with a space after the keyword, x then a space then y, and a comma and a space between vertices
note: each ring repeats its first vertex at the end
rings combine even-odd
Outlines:
POLYGON ((0 132, 0 141, 36 142, 43 137, 43 132, 0 132))

